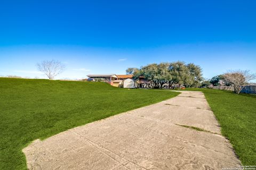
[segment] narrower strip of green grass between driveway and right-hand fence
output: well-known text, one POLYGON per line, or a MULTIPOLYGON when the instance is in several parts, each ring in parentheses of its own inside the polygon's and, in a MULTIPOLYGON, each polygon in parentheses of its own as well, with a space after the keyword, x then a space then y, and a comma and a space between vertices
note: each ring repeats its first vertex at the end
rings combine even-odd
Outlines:
POLYGON ((188 88, 203 91, 221 125, 221 133, 229 139, 243 165, 256 165, 256 95, 231 91, 188 88))

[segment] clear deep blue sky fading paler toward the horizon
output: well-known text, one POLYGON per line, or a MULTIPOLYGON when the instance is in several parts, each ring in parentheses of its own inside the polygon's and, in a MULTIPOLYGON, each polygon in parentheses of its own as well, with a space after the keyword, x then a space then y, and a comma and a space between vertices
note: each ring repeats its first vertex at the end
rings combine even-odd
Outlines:
POLYGON ((256 1, 1 1, 0 75, 60 78, 124 74, 127 67, 185 61, 205 78, 256 72, 256 1))

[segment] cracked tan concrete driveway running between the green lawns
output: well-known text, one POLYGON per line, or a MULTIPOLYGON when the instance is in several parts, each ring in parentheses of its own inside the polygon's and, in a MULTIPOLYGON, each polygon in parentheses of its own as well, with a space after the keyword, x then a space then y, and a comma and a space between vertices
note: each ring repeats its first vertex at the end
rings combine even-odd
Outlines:
POLYGON ((241 165, 202 92, 35 140, 29 169, 221 169, 241 165), (194 126, 201 132, 179 125, 194 126))

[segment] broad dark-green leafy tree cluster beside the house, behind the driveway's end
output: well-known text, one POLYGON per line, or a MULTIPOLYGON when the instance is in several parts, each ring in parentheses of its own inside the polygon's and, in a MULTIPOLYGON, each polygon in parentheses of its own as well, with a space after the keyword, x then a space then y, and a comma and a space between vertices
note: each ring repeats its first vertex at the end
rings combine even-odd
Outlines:
POLYGON ((163 85, 166 83, 169 84, 169 88, 173 84, 183 84, 187 87, 199 87, 201 81, 203 81, 201 67, 193 63, 186 64, 180 61, 160 64, 154 63, 142 66, 140 69, 129 69, 135 70, 133 71, 134 79, 143 77, 149 80, 151 86, 154 88, 163 88, 163 85))

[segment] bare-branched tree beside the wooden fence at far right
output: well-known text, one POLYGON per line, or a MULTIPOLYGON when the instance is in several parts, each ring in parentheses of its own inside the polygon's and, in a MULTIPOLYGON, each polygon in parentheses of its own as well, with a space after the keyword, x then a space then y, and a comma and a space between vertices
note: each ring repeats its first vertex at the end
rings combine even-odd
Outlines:
POLYGON ((224 74, 224 79, 232 84, 234 87, 234 92, 239 94, 244 88, 245 84, 248 84, 249 81, 256 79, 256 75, 251 74, 249 70, 231 70, 224 74))

